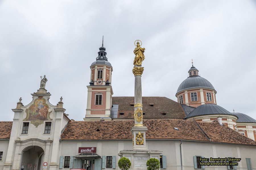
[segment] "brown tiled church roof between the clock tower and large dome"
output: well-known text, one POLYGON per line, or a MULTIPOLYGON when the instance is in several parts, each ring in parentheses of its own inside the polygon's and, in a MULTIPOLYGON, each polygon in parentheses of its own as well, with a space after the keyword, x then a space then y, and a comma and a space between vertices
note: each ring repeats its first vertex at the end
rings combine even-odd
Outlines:
MULTIPOLYGON (((112 104, 118 104, 117 118, 133 119, 134 107, 131 103, 134 103, 134 97, 112 97, 112 104)), ((166 97, 142 97, 142 104, 144 119, 183 119, 186 116, 179 103, 166 97)))

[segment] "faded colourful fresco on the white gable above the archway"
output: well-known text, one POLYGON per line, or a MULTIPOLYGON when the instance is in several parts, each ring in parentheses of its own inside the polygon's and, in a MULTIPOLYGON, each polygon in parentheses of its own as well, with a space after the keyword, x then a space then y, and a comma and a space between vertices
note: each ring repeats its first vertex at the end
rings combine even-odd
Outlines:
POLYGON ((41 125, 44 123, 45 120, 52 120, 50 118, 50 113, 52 110, 49 112, 49 106, 46 104, 46 101, 44 98, 36 98, 34 103, 26 109, 26 118, 23 119, 23 121, 28 121, 30 120, 30 123, 38 127, 38 125, 41 125))

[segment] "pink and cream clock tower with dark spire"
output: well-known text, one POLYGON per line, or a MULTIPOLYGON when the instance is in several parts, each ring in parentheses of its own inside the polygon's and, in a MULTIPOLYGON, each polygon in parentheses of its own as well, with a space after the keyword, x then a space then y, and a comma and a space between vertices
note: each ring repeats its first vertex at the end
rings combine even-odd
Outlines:
POLYGON ((87 86, 87 109, 84 120, 111 120, 110 112, 113 95, 111 74, 113 68, 106 57, 107 53, 106 48, 103 46, 103 38, 98 57, 90 66, 91 81, 90 85, 87 86))

